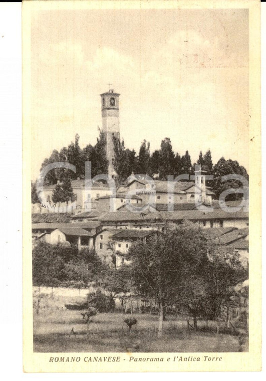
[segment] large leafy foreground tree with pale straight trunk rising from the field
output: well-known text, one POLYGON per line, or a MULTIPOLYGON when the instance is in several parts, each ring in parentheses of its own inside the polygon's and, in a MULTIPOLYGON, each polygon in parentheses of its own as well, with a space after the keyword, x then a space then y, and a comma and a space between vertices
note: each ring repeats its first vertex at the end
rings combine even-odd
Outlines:
POLYGON ((165 232, 133 244, 128 252, 134 286, 158 303, 158 337, 162 336, 165 309, 176 300, 184 279, 204 273, 207 263, 206 240, 197 227, 166 227, 165 232))

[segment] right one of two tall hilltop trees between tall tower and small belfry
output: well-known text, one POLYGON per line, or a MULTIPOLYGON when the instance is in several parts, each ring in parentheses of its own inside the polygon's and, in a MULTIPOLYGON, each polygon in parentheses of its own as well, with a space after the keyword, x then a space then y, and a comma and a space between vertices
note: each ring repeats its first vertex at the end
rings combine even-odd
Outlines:
POLYGON ((161 141, 159 177, 167 180, 168 175, 174 174, 175 156, 172 149, 171 140, 166 137, 161 141))

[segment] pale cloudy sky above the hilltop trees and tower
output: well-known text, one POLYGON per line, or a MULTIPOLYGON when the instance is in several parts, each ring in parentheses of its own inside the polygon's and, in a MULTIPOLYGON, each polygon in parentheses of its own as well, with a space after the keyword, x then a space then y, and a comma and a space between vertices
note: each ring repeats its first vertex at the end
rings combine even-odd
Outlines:
POLYGON ((95 144, 99 94, 120 93, 120 135, 248 169, 248 10, 36 11, 31 32, 32 178, 53 149, 95 144))

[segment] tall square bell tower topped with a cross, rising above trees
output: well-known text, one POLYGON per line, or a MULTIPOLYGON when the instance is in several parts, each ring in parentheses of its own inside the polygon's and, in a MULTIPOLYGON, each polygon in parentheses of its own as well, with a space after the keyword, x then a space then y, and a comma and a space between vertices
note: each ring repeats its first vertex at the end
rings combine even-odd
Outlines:
POLYGON ((106 137, 106 157, 108 160, 108 174, 113 177, 116 172, 113 165, 114 144, 113 136, 119 139, 119 95, 113 89, 101 94, 102 126, 106 137))

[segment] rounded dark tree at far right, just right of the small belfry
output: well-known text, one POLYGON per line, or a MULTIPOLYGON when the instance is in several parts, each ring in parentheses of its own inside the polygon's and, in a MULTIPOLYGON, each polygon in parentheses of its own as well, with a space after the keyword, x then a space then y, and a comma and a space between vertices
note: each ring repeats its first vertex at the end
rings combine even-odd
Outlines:
MULTIPOLYGON (((215 192, 217 198, 226 189, 243 187, 242 182, 237 179, 222 181, 222 176, 227 174, 239 174, 248 180, 246 169, 239 165, 236 160, 225 160, 224 157, 221 157, 213 167, 213 192, 215 192)), ((231 194, 226 198, 226 201, 240 200, 242 198, 241 194, 231 194)))

